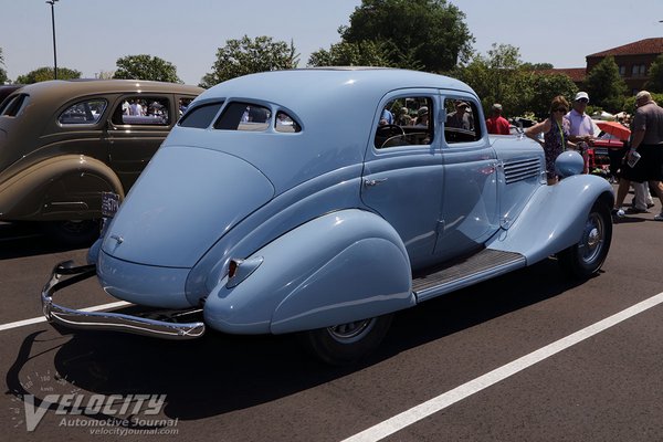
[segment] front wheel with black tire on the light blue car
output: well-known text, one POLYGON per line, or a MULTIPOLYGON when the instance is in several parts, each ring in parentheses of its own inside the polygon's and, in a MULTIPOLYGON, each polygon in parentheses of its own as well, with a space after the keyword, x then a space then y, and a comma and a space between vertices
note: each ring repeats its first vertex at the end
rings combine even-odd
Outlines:
POLYGON ((557 259, 572 277, 586 280, 603 265, 611 241, 610 208, 596 201, 587 217, 580 242, 558 253, 557 259))

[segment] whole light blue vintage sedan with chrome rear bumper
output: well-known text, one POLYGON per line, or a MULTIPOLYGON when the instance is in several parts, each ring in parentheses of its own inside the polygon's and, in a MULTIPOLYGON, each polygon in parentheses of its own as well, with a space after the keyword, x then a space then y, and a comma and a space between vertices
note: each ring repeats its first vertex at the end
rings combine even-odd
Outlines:
POLYGON ((577 277, 597 273, 610 185, 575 175, 582 160, 566 152, 566 178, 546 186, 540 146, 490 137, 480 103, 456 80, 389 69, 221 83, 190 105, 88 265, 55 267, 44 314, 175 339, 296 332, 344 364, 379 345, 394 312, 432 297, 552 255, 577 277), (169 314, 53 303, 95 274, 113 296, 169 314))

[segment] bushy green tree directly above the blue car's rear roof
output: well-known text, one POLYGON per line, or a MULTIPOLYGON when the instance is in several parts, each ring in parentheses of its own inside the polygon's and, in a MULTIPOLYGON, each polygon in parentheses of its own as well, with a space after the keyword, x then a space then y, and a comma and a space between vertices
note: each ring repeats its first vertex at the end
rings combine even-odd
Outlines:
POLYGON ((271 36, 251 39, 244 35, 240 40, 227 40, 225 46, 217 50, 217 61, 212 72, 206 74, 201 87, 215 84, 242 75, 265 71, 295 69, 299 63, 299 54, 291 41, 273 41, 271 36))

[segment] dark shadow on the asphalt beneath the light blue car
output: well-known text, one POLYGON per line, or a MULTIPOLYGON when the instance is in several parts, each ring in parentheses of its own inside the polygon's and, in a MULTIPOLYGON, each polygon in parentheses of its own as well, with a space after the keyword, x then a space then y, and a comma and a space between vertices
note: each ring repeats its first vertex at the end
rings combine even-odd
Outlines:
MULTIPOLYGON (((102 394, 167 394, 165 413, 196 420, 266 403, 341 378, 406 351, 557 296, 579 283, 554 260, 400 312, 379 350, 359 365, 329 367, 309 357, 293 335, 208 333, 190 341, 88 332, 30 349, 28 336, 8 373, 10 389, 31 358, 53 358, 76 387, 102 394), (38 355, 32 355, 38 352, 38 355), (31 356, 32 355, 32 356, 31 356)), ((35 346, 36 347, 36 346, 35 346)), ((45 361, 51 366, 50 361, 45 361)))

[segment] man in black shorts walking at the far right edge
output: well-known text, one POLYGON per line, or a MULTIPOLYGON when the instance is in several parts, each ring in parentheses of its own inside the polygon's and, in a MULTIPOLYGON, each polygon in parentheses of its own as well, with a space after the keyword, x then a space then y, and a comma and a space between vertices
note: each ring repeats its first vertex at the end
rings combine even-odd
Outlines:
MULTIPOLYGON (((649 92, 640 91, 635 95, 635 116, 631 131, 631 147, 627 154, 627 165, 622 167, 613 213, 624 215, 621 208, 631 181, 649 181, 663 206, 663 108, 653 99, 649 92), (633 164, 635 157, 640 159, 633 164), (629 164, 630 162, 630 164, 629 164)), ((663 221, 663 210, 654 217, 663 221)))

